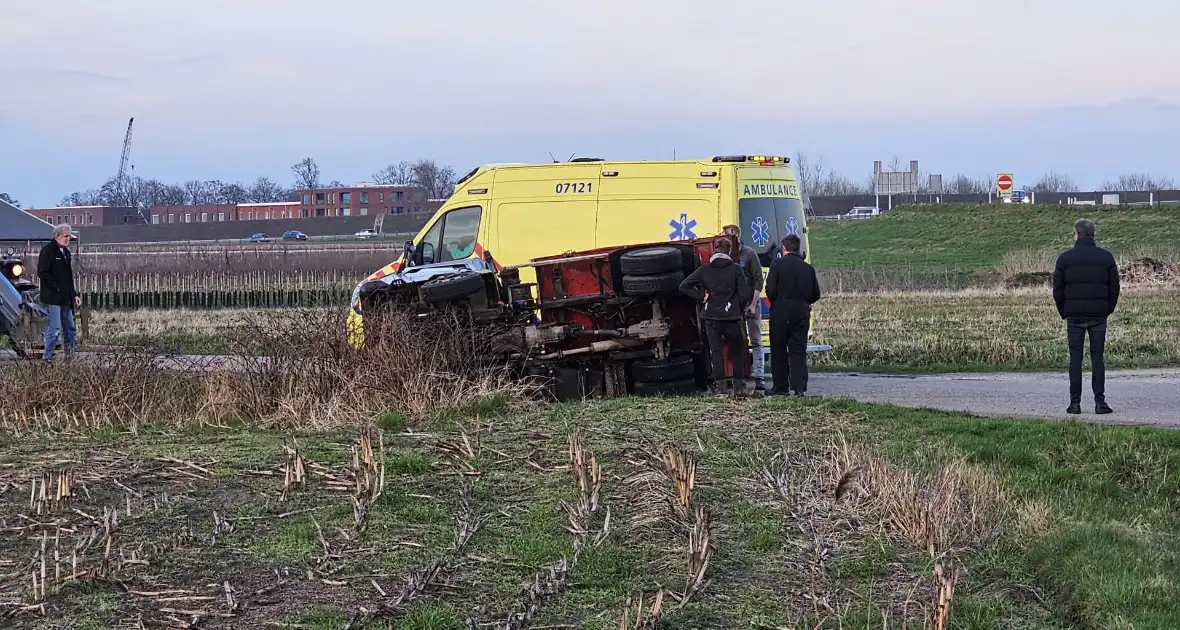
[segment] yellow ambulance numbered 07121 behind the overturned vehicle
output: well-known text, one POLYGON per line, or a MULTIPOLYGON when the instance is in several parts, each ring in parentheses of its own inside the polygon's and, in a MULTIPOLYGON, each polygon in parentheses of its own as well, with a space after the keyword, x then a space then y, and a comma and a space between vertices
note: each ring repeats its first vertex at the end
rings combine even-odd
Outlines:
MULTIPOLYGON (((700 160, 607 162, 479 166, 413 238, 411 255, 375 271, 353 291, 349 340, 363 340, 361 286, 424 267, 496 268, 542 256, 612 245, 683 241, 741 227, 742 243, 763 275, 788 234, 807 241, 799 178, 781 156, 717 156, 700 160)), ((522 282, 535 282, 520 269, 522 282)), ((763 348, 769 349, 762 293, 763 348)), ((814 330, 814 327, 812 328, 814 330)))

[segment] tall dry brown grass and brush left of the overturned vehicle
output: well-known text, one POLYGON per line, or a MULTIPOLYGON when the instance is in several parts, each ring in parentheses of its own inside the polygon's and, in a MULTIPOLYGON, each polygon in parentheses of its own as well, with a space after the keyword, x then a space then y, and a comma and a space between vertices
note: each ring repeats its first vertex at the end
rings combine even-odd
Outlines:
POLYGON ((232 365, 225 368, 150 344, 73 363, 5 365, 0 396, 9 403, 0 424, 15 433, 241 420, 323 429, 522 392, 510 387, 505 366, 471 359, 486 355, 480 348, 487 341, 457 321, 394 314, 369 322, 374 337, 382 326, 401 333, 396 343, 354 350, 339 311, 248 317, 227 332, 232 365))

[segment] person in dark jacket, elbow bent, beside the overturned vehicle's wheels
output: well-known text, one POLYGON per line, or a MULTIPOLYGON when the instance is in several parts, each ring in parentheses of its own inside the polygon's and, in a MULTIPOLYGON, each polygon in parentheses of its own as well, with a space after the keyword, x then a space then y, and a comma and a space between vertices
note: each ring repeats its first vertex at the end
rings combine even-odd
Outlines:
POLYGON ((683 282, 680 291, 694 300, 704 300, 701 319, 713 359, 713 380, 726 380, 726 363, 721 354, 725 342, 729 343, 729 362, 734 366, 735 389, 741 389, 746 379, 746 329, 742 311, 749 307, 753 291, 746 274, 730 257, 733 245, 722 238, 713 245, 709 262, 697 267, 683 282))

